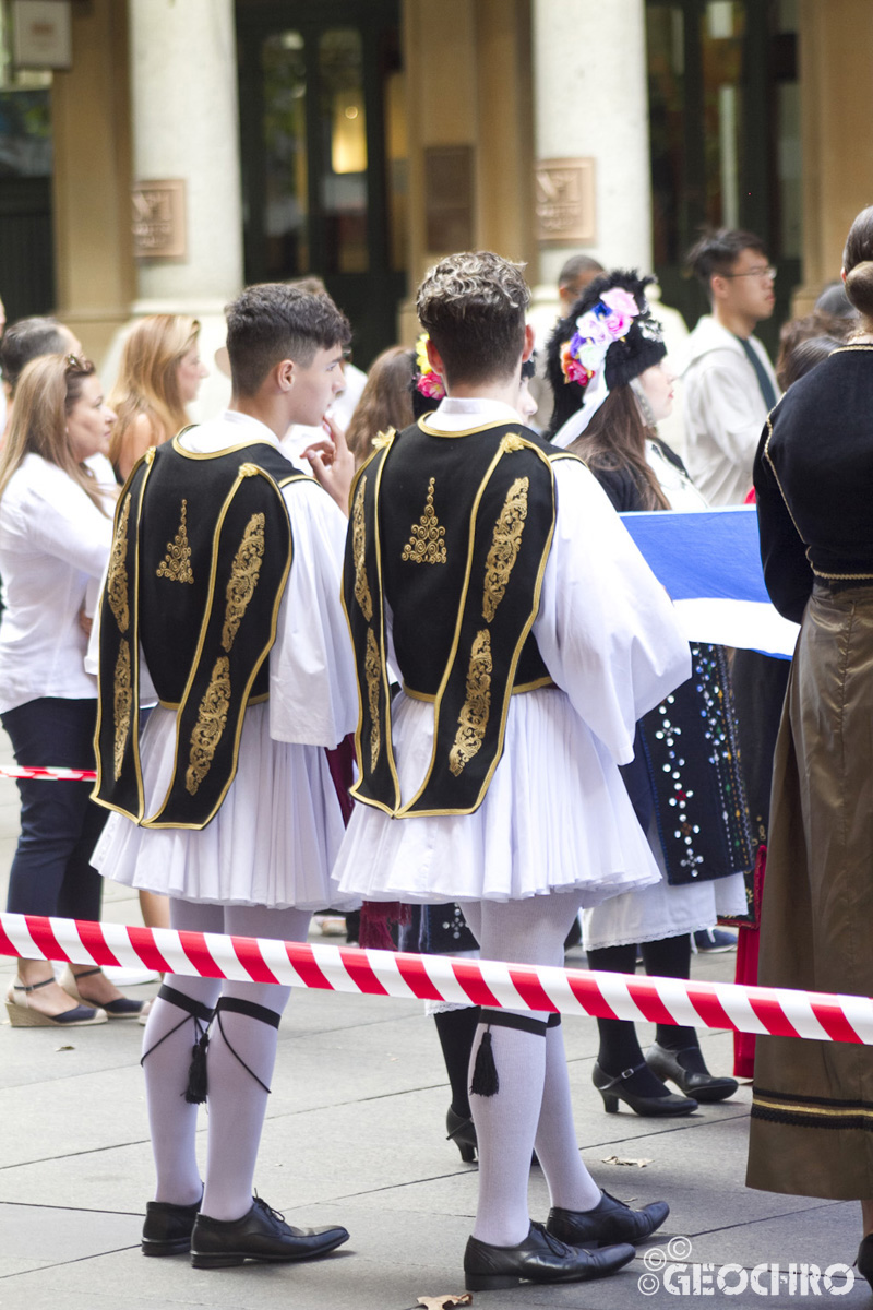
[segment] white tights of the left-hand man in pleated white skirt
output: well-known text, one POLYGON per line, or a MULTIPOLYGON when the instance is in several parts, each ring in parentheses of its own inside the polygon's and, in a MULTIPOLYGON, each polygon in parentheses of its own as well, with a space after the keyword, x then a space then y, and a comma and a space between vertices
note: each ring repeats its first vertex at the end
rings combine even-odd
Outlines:
MULTIPOLYGON (((309 920, 309 910, 170 901, 170 921, 179 930, 305 942, 309 920)), ((165 981, 208 1009, 213 1009, 219 997, 224 996, 249 1001, 280 1015, 291 996, 291 988, 271 982, 223 982, 179 973, 168 975, 165 981)), ((195 1151, 198 1107, 185 1100, 195 1039, 194 1019, 170 1001, 158 998, 145 1027, 143 1069, 157 1172, 154 1199, 175 1205, 191 1205, 202 1192, 195 1151), (183 1022, 177 1027, 181 1019, 183 1022)), ((203 1187, 203 1213, 212 1218, 237 1220, 251 1207, 254 1169, 267 1110, 267 1091, 260 1083, 270 1086, 276 1040, 277 1031, 270 1023, 234 1011, 221 1013, 221 1027, 217 1022, 212 1024, 207 1057, 208 1140, 203 1187), (240 1064, 241 1060, 251 1073, 240 1064)))

